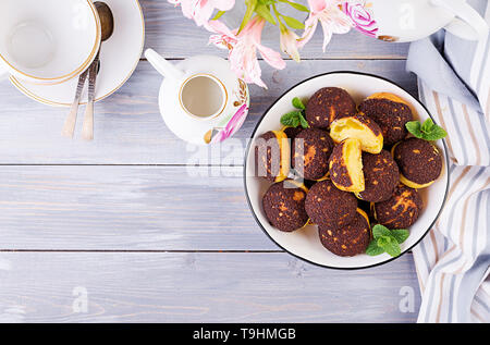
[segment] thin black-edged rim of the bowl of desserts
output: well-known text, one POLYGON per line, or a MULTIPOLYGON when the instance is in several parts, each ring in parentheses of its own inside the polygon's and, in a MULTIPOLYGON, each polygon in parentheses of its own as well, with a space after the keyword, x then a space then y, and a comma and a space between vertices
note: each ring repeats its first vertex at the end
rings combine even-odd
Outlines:
MULTIPOLYGON (((308 262, 308 263, 311 263, 311 264, 315 264, 315 266, 318 266, 318 267, 322 267, 322 268, 327 268, 327 269, 346 270, 346 271, 362 270, 362 269, 369 269, 369 268, 373 268, 373 267, 377 267, 377 266, 381 266, 381 264, 391 262, 391 261, 393 261, 393 260, 395 260, 395 259, 402 257, 402 256, 403 256, 404 254, 406 254, 407 251, 412 250, 412 248, 414 248, 416 245, 418 245, 418 244, 427 236, 427 234, 429 233, 429 231, 433 227, 433 225, 434 225, 436 222, 438 221, 439 217, 441 215, 442 210, 444 209, 445 202, 446 202, 446 200, 448 200, 448 194, 449 194, 449 189, 450 189, 449 186, 450 186, 450 184, 451 184, 451 171, 450 171, 450 169, 449 169, 449 168, 450 168, 449 151, 448 151, 448 146, 446 146, 446 144, 445 144, 445 139, 444 139, 444 138, 442 138, 441 140, 442 140, 442 146, 443 146, 443 148, 444 148, 445 170, 446 170, 446 174, 448 174, 448 183, 446 183, 446 185, 445 185, 445 193, 444 193, 444 198, 443 198, 443 200, 442 200, 441 208, 439 209, 439 211, 438 211, 436 218, 433 219, 432 223, 428 226, 428 229, 426 230, 426 232, 420 236, 420 238, 418 238, 418 241, 417 241, 415 244, 413 244, 411 247, 406 248, 406 249, 405 249, 404 251, 402 251, 399 256, 393 257, 393 258, 389 258, 389 259, 383 260, 383 261, 381 261, 381 262, 377 262, 377 263, 372 263, 372 264, 368 264, 368 266, 357 266, 357 267, 335 267, 335 266, 328 266, 328 264, 322 264, 322 263, 314 262, 314 261, 311 261, 311 260, 309 260, 309 259, 306 259, 306 258, 304 258, 304 257, 302 257, 302 256, 298 256, 298 255, 296 255, 296 254, 294 254, 294 252, 292 252, 292 251, 285 249, 283 246, 281 246, 281 244, 279 244, 275 239, 273 239, 272 236, 268 233, 268 231, 264 227, 264 225, 261 224, 261 222, 260 222, 259 219, 257 218, 257 214, 256 214, 255 211, 254 211, 254 208, 253 208, 252 201, 250 201, 250 197, 249 197, 249 195, 248 195, 248 188, 247 188, 247 162, 248 162, 248 156, 250 155, 250 147, 252 147, 253 138, 254 138, 254 136, 255 136, 255 134, 256 134, 258 127, 260 126, 260 123, 262 122, 264 118, 269 113, 269 111, 272 109, 272 107, 274 107, 275 103, 277 103, 280 99, 282 99, 287 93, 290 93, 291 90, 293 90, 295 87, 297 87, 297 86, 299 86, 299 85, 302 85, 302 84, 304 84, 304 83, 306 83, 306 82, 309 82, 309 81, 311 81, 311 79, 314 79, 314 78, 317 78, 317 77, 320 77, 320 76, 324 76, 324 75, 330 75, 330 74, 357 74, 357 75, 364 75, 364 76, 369 76, 369 77, 382 79, 382 81, 384 81, 384 82, 388 82, 388 83, 390 83, 390 84, 393 84, 393 85, 396 86, 396 87, 400 87, 402 90, 404 90, 405 93, 407 93, 408 95, 412 96, 412 94, 408 93, 404 87, 400 86, 399 84, 396 84, 396 83, 394 83, 394 82, 392 82, 392 81, 390 81, 390 79, 388 79, 388 78, 385 78, 385 77, 383 77, 383 76, 379 76, 379 75, 370 74, 370 73, 365 73, 365 72, 346 71, 346 70, 344 70, 344 71, 331 71, 331 72, 320 73, 320 74, 314 75, 314 76, 311 76, 311 77, 308 77, 308 78, 306 78, 306 79, 304 79, 304 81, 302 81, 302 82, 295 84, 294 86, 290 87, 287 90, 285 90, 284 93, 282 93, 282 95, 279 96, 278 99, 275 99, 275 100, 269 106, 269 108, 268 108, 268 109, 264 112, 264 114, 260 116, 259 121, 258 121, 257 124, 255 125, 254 131, 253 131, 252 134, 250 134, 249 140, 248 140, 248 144, 247 144, 247 147, 246 147, 246 149, 245 149, 244 164, 243 164, 243 184, 244 184, 244 189, 245 189, 245 196, 246 196, 246 199, 247 199, 248 208, 249 208, 252 214, 254 215, 254 219, 255 219, 255 221, 257 222, 257 224, 260 226, 260 229, 262 230, 262 232, 269 237, 269 239, 271 239, 278 247, 280 247, 280 248, 281 248, 282 250, 284 250, 285 252, 292 255, 293 257, 295 257, 295 258, 297 258, 297 259, 301 259, 301 260, 303 260, 303 261, 306 261, 306 262, 308 262)), ((415 96, 412 96, 412 97, 413 97, 413 98, 414 98, 414 99, 415 99, 415 100, 424 108, 424 110, 427 112, 427 114, 429 115, 429 118, 432 119, 432 121, 433 121, 434 123, 437 123, 437 122, 434 121, 433 116, 430 114, 430 112, 429 112, 429 110, 427 109, 427 107, 418 99, 418 97, 415 97, 415 96)))

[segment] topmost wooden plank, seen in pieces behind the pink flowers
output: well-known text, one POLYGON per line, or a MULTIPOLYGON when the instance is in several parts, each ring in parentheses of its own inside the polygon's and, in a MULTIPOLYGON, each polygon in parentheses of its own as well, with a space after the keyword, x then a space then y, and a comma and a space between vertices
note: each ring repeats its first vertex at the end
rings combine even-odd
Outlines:
MULTIPOLYGON (((306 1, 304 2, 306 3, 306 1)), ((185 19, 180 8, 174 8, 164 0, 143 0, 140 4, 145 15, 147 48, 154 48, 168 58, 187 58, 197 53, 225 57, 224 50, 208 45, 210 33, 185 19), (189 47, 194 49, 189 49, 189 47)), ((232 14, 228 17, 230 16, 232 19, 229 21, 230 27, 233 23, 240 23, 240 14, 232 14)), ((226 16, 223 19, 225 20, 226 16)), ((314 38, 302 50, 303 58, 404 59, 408 51, 407 44, 384 42, 355 30, 346 35, 333 35, 326 52, 322 51, 322 42, 323 33, 319 26, 314 38)), ((279 51, 279 29, 268 24, 262 34, 262 44, 279 51)))

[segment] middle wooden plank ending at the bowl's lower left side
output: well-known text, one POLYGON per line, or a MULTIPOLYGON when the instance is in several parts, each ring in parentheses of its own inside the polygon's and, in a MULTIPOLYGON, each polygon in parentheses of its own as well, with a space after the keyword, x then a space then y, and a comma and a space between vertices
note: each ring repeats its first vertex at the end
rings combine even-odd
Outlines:
POLYGON ((0 167, 0 249, 278 250, 242 168, 0 167))

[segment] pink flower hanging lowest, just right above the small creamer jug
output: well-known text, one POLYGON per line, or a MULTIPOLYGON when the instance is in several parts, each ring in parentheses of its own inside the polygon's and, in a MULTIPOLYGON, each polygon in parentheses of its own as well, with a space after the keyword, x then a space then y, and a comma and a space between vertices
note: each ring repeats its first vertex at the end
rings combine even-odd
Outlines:
POLYGON ((260 38, 266 21, 255 16, 249 21, 240 34, 230 30, 220 21, 211 21, 208 27, 218 35, 210 37, 209 41, 221 48, 229 49, 229 60, 232 71, 245 83, 254 83, 264 88, 266 84, 260 78, 261 70, 257 60, 257 49, 264 60, 277 70, 285 67, 281 54, 270 48, 260 45, 260 38))

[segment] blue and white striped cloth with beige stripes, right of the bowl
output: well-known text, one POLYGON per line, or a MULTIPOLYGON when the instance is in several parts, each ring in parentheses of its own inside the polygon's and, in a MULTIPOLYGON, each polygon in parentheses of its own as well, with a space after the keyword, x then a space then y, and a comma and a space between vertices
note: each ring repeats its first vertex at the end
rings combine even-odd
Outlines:
MULTIPOLYGON (((487 0, 468 1, 490 24, 487 0)), ((490 322, 490 36, 440 32, 412 44, 407 70, 448 132, 451 185, 444 210, 414 248, 418 322, 490 322)))

